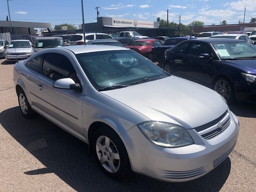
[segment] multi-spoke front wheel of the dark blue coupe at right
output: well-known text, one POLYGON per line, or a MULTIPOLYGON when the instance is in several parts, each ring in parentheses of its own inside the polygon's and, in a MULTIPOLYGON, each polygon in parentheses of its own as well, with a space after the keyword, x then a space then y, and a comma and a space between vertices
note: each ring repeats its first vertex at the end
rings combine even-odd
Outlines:
POLYGON ((234 87, 227 77, 217 78, 213 83, 212 89, 224 97, 228 104, 235 99, 234 87))

